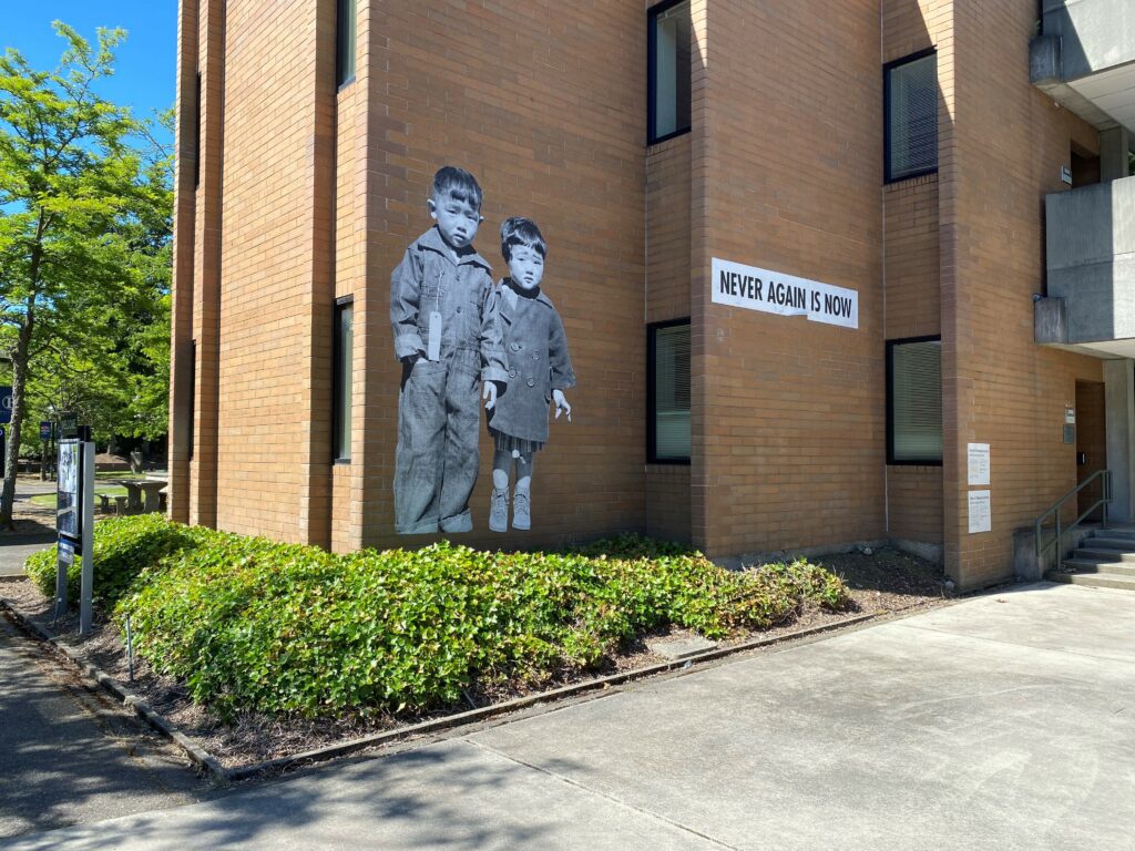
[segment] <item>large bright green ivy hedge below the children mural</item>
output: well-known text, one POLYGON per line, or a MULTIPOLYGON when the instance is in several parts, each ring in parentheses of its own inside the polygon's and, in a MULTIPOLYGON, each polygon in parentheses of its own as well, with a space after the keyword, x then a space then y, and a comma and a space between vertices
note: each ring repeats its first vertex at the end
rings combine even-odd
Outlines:
POLYGON ((137 652, 222 714, 445 708, 470 686, 595 669, 648 630, 720 638, 847 599, 806 562, 734 573, 638 537, 566 554, 443 542, 333 555, 155 515, 103 530, 96 589, 131 614, 137 652))

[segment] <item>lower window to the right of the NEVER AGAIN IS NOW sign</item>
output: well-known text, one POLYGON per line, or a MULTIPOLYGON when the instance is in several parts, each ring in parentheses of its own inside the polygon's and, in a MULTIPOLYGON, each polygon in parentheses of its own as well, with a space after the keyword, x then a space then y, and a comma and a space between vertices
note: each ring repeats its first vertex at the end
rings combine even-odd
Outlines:
POLYGON ((886 461, 942 463, 942 342, 886 344, 886 461))

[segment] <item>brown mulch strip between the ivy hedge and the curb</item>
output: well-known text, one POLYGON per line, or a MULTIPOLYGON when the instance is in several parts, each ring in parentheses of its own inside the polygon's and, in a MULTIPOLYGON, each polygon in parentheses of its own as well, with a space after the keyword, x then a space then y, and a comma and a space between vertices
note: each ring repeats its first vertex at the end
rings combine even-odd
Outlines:
MULTIPOLYGON (((872 555, 851 551, 812 559, 823 564, 840 575, 850 589, 851 606, 848 610, 832 613, 809 607, 798 613, 784 624, 759 632, 746 632, 721 642, 722 647, 741 644, 754 638, 777 638, 804 629, 834 624, 854 615, 890 615, 911 613, 944 605, 948 596, 943 591, 941 568, 930 562, 907 555, 896 549, 881 548, 872 555)), ((10 600, 18 609, 31 615, 39 623, 50 625, 51 600, 45 598, 28 580, 0 584, 0 597, 10 600)), ((395 730, 409 724, 443 717, 473 707, 497 703, 510 698, 532 693, 535 689, 512 689, 497 692, 471 692, 468 705, 453 707, 448 711, 434 715, 375 714, 368 717, 340 717, 306 719, 297 717, 276 718, 246 713, 230 723, 225 723, 208 709, 194 705, 185 690, 176 682, 154 674, 143 659, 135 659, 134 680, 128 681, 126 648, 118 631, 108 624, 102 613, 95 612, 94 631, 86 639, 78 637, 78 616, 72 614, 60 620, 53 631, 85 659, 124 683, 129 691, 146 701, 183 733, 194 739, 210 751, 226 768, 246 766, 268 759, 292 756, 316 748, 359 739, 375 733, 395 730)), ((671 637, 683 635, 674 630, 671 637)), ((621 648, 607 668, 596 674, 612 674, 634 671, 664 662, 646 646, 642 637, 621 648)), ((586 680, 549 680, 539 685, 540 691, 586 680)))

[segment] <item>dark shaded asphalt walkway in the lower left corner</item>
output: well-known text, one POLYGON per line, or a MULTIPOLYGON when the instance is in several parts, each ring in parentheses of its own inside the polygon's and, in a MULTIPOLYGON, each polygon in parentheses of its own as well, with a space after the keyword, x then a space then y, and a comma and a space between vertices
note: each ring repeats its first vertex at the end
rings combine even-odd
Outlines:
POLYGON ((191 803, 201 785, 179 753, 0 616, 0 836, 191 803))

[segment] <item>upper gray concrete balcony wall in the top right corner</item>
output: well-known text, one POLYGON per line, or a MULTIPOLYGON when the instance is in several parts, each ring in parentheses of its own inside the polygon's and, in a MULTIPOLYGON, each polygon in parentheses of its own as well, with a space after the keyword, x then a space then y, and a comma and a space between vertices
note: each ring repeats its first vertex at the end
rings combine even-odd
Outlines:
POLYGON ((1044 0, 1044 35, 1060 36, 1063 79, 1135 61, 1132 0, 1044 0))

